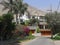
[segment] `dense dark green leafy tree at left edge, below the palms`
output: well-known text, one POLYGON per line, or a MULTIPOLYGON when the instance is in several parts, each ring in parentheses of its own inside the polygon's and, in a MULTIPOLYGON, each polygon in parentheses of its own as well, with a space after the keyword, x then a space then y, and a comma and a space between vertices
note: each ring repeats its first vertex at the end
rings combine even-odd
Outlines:
POLYGON ((12 22, 13 14, 3 14, 0 16, 0 40, 10 39, 15 30, 15 23, 12 22))

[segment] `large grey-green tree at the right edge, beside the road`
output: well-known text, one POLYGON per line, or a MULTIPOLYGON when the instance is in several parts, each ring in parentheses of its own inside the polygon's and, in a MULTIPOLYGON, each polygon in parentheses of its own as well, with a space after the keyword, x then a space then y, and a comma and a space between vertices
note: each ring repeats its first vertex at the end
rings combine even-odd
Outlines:
POLYGON ((49 24, 49 27, 52 30, 52 36, 53 34, 59 33, 60 32, 60 13, 57 11, 53 13, 47 13, 46 16, 46 21, 49 24))

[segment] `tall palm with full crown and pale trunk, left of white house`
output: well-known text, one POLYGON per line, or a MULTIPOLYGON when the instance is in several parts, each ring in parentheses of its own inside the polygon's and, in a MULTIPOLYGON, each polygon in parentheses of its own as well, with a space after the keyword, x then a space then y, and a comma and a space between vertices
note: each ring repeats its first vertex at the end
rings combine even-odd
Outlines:
MULTIPOLYGON (((23 0, 16 0, 14 2, 14 4, 15 5, 14 5, 13 10, 14 10, 14 13, 16 14, 16 20, 18 20, 17 17, 19 15, 18 21, 20 22, 20 16, 23 15, 25 11, 27 11, 28 5, 26 3, 23 3, 23 0)), ((17 23, 18 23, 18 21, 17 21, 17 23)))

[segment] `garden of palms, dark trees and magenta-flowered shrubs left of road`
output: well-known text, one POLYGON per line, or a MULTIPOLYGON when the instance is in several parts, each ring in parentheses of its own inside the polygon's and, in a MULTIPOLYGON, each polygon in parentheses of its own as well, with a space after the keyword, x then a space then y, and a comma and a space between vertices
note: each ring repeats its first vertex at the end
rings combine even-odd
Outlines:
POLYGON ((24 28, 24 25, 19 23, 18 18, 18 15, 24 15, 28 5, 23 3, 22 0, 2 1, 0 4, 4 6, 3 11, 9 9, 6 14, 0 16, 0 41, 21 42, 34 39, 35 36, 32 36, 26 25, 24 28), (14 22, 14 15, 16 16, 16 22, 14 22))

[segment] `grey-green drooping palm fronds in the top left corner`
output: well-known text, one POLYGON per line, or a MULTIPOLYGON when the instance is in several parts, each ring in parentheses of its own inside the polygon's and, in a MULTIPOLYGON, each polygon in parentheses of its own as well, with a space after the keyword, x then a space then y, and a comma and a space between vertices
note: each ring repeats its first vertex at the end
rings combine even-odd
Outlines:
POLYGON ((0 4, 4 6, 3 11, 9 9, 8 12, 12 12, 13 0, 3 0, 2 2, 0 2, 0 4))

